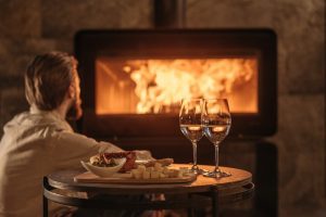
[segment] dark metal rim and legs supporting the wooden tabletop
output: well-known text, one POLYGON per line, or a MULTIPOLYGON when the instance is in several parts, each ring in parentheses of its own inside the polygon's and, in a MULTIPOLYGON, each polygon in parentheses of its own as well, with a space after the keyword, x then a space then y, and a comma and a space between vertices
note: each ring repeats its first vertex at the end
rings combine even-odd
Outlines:
MULTIPOLYGON (((91 189, 95 189, 95 187, 86 188, 86 186, 80 187, 78 184, 74 186, 65 186, 62 183, 57 183, 55 181, 49 180, 49 177, 43 178, 43 217, 48 217, 48 201, 52 201, 54 203, 68 205, 68 206, 75 206, 80 208, 96 208, 96 209, 138 209, 138 210, 145 210, 145 209, 188 209, 188 215, 192 216, 193 210, 196 208, 200 207, 206 207, 208 201, 211 201, 212 205, 212 212, 213 216, 218 216, 218 204, 221 203, 234 203, 238 201, 243 201, 247 199, 250 199, 253 195, 254 192, 254 184, 249 182, 239 183, 240 188, 238 188, 237 191, 227 191, 227 190, 221 190, 218 186, 211 186, 209 189, 204 191, 176 191, 174 192, 167 192, 167 194, 178 194, 184 193, 188 196, 185 196, 183 199, 177 200, 165 200, 165 201, 146 201, 146 202, 137 202, 137 201, 129 201, 129 202, 112 202, 112 200, 106 201, 103 199, 98 197, 89 197, 89 199, 82 199, 82 197, 74 197, 74 196, 67 196, 63 195, 58 192, 53 192, 55 189, 61 190, 73 190, 76 192, 82 191, 89 191, 91 189), (196 196, 193 195, 202 195, 203 197, 208 199, 205 202, 200 202, 196 200, 196 196)), ((106 192, 105 192, 106 193, 106 192)), ((156 190, 152 191, 151 193, 166 193, 166 191, 156 190)), ((117 194, 114 192, 113 194, 117 194)), ((136 194, 135 192, 131 194, 136 194)), ((139 195, 140 193, 138 193, 139 195)), ((143 193, 142 193, 143 194, 143 193)))

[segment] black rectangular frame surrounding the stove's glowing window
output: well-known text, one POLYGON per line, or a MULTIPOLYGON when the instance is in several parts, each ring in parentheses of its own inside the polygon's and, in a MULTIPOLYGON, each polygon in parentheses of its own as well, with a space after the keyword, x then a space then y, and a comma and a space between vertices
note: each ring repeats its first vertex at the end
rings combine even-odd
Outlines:
POLYGON ((271 29, 83 30, 75 36, 84 116, 78 129, 95 138, 181 137, 177 114, 95 113, 95 60, 204 59, 255 55, 259 60, 259 113, 233 114, 230 136, 266 137, 277 129, 277 38, 271 29))

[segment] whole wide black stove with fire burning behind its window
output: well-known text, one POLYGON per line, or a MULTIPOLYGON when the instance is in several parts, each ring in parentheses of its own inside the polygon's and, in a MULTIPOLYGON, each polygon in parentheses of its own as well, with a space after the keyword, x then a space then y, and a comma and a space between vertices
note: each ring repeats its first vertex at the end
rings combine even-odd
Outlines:
POLYGON ((84 117, 95 138, 180 138, 183 98, 227 98, 230 136, 276 130, 269 29, 84 30, 76 35, 84 117))

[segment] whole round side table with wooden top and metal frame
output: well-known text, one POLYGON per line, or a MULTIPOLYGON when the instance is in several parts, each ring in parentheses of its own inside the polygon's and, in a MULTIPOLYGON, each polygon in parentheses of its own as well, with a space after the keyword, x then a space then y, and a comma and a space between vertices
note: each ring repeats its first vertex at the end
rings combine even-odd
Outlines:
MULTIPOLYGON (((191 165, 173 164, 172 167, 188 167, 191 165)), ((200 168, 213 170, 213 166, 199 165, 200 168)), ((249 199, 253 194, 254 184, 249 171, 221 167, 222 170, 230 173, 230 177, 208 178, 201 175, 192 182, 186 183, 153 183, 153 184, 122 184, 122 183, 85 183, 74 181, 74 177, 85 170, 60 170, 43 178, 43 216, 48 216, 48 200, 84 208, 105 209, 174 209, 174 208, 199 208, 206 206, 206 202, 199 202, 193 195, 202 195, 210 200, 213 216, 218 216, 218 203, 231 203, 249 199), (140 194, 187 194, 178 200, 148 201, 148 202, 116 202, 110 203, 99 199, 82 199, 60 194, 53 190, 70 190, 74 192, 87 192, 90 194, 108 195, 140 195, 140 194)), ((192 213, 192 212, 190 212, 192 213)))

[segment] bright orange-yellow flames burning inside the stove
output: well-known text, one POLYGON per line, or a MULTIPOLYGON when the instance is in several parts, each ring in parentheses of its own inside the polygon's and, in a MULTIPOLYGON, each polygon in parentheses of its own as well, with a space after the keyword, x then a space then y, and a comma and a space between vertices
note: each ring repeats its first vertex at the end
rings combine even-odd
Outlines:
POLYGON ((145 114, 177 112, 184 98, 229 98, 256 68, 255 59, 179 59, 127 61, 123 71, 136 84, 136 111, 145 114))

